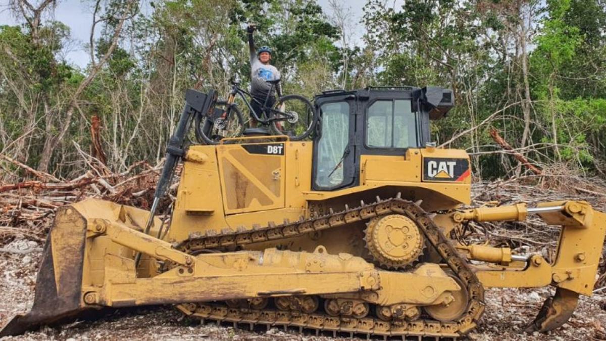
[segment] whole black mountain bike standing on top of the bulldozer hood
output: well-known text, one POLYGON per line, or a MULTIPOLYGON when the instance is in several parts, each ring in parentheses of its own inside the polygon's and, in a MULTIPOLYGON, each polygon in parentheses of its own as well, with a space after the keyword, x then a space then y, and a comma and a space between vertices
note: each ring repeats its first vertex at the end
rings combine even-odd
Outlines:
POLYGON ((196 136, 207 144, 219 144, 223 138, 239 137, 244 133, 245 121, 242 112, 236 103, 236 97, 240 97, 245 106, 248 107, 250 117, 257 122, 268 125, 272 133, 276 135, 287 135, 291 141, 300 141, 307 138, 318 121, 318 116, 310 101, 300 95, 285 95, 278 98, 276 103, 269 107, 267 103, 270 93, 278 85, 280 79, 267 81, 270 90, 264 103, 254 98, 250 92, 240 87, 237 76, 231 78, 231 90, 226 101, 218 101, 217 107, 211 113, 196 117, 196 136), (250 101, 248 100, 250 98, 250 101), (261 104, 262 112, 255 112, 251 101, 261 104), (267 115, 264 118, 263 113, 267 115))

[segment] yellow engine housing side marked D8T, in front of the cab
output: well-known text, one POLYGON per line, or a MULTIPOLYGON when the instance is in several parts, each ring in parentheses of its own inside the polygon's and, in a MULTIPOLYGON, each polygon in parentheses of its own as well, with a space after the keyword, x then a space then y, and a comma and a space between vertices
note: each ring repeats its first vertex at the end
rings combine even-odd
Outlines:
POLYGON ((278 143, 191 146, 165 240, 181 241, 209 230, 280 224, 285 218, 295 221, 305 215, 307 201, 303 193, 310 189, 313 144, 282 144, 282 150, 276 148, 278 143), (271 154, 267 154, 268 146, 272 146, 271 154), (220 158, 228 169, 219 165, 220 158), (226 181, 226 177, 237 178, 239 187, 233 186, 233 178, 226 181), (244 208, 237 208, 238 200, 244 208), (236 208, 230 206, 233 204, 236 208))

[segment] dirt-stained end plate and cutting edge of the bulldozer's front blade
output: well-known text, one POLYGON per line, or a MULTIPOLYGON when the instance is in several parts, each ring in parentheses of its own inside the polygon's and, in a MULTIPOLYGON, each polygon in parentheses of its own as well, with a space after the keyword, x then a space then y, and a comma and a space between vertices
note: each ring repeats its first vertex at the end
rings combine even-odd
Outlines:
POLYGON ((13 317, 0 337, 60 322, 84 310, 80 302, 85 235, 82 215, 70 207, 58 209, 44 246, 32 310, 13 317))

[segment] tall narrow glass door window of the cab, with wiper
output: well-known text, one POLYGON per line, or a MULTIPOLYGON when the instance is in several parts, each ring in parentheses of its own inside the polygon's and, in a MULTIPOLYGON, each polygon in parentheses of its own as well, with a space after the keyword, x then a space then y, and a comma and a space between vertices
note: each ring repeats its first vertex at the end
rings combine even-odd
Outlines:
POLYGON ((343 159, 348 151, 349 104, 327 103, 320 110, 321 137, 317 147, 315 184, 334 188, 344 182, 343 159))

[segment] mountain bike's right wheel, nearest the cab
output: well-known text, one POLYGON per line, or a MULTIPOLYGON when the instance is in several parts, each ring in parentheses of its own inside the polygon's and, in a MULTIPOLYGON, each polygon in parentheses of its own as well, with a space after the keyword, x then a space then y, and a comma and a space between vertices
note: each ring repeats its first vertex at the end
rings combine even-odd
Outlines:
POLYGON ((318 120, 310 101, 299 95, 280 97, 271 109, 270 118, 273 133, 287 135, 291 141, 307 138, 318 120))

